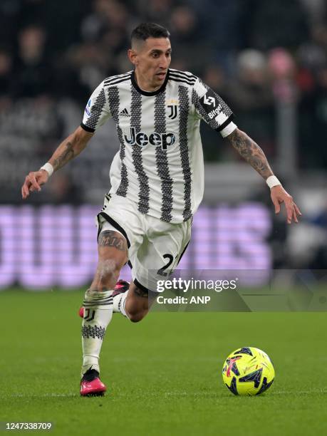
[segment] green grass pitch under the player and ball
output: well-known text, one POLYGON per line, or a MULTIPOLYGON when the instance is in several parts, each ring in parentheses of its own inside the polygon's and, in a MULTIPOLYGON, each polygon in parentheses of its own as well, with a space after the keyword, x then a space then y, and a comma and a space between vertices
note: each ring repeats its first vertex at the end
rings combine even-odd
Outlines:
POLYGON ((108 393, 81 398, 82 296, 0 292, 1 422, 53 422, 51 435, 326 434, 326 313, 115 314, 101 355, 108 393), (240 346, 274 361, 264 395, 222 383, 240 346))

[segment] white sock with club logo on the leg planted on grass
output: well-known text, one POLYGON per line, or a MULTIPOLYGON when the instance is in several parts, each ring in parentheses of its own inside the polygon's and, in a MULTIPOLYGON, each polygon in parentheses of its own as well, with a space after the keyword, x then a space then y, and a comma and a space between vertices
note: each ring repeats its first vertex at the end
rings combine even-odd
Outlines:
POLYGON ((85 292, 82 323, 83 365, 81 375, 91 367, 100 373, 100 350, 105 329, 113 316, 113 291, 85 292))

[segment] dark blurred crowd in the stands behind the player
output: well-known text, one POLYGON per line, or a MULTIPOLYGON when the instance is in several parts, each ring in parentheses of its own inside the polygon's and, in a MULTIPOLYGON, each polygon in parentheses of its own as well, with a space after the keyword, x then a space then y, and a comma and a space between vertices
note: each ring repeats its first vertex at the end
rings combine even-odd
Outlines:
MULTIPOLYGON (((167 26, 172 68, 222 95, 270 159, 276 105, 293 102, 298 165, 326 168, 326 14, 325 0, 1 0, 1 185, 48 158, 103 78, 131 69, 126 49, 142 21, 167 26)), ((203 135, 207 160, 230 158, 216 133, 203 135)))

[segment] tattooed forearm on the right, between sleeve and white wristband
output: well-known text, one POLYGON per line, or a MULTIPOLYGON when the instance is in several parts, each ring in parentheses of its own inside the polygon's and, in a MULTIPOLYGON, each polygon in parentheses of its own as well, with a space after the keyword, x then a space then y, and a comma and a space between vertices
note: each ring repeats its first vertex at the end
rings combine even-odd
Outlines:
POLYGON ((254 170, 259 172, 259 175, 267 179, 269 176, 274 175, 269 166, 269 163, 261 150, 259 145, 251 140, 251 137, 242 132, 242 130, 236 129, 228 139, 232 143, 233 147, 239 152, 239 154, 244 157, 246 162, 248 162, 254 170))

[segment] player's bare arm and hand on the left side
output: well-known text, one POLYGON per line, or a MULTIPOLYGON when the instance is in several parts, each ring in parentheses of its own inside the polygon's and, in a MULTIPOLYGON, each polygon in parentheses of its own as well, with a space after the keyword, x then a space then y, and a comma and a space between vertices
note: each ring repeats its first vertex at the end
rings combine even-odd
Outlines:
MULTIPOLYGON (((92 136, 93 133, 78 127, 75 132, 66 137, 48 161, 53 166, 53 171, 60 170, 63 165, 78 156, 88 145, 88 141, 92 136)), ((30 192, 41 191, 41 186, 48 182, 48 178, 49 175, 46 170, 30 172, 25 177, 24 185, 21 187, 23 199, 26 199, 30 192)))

